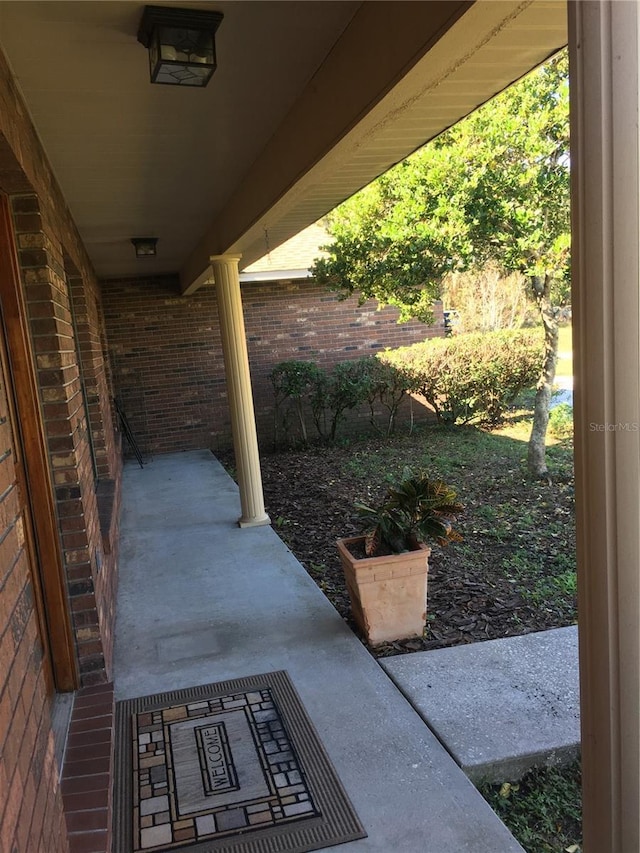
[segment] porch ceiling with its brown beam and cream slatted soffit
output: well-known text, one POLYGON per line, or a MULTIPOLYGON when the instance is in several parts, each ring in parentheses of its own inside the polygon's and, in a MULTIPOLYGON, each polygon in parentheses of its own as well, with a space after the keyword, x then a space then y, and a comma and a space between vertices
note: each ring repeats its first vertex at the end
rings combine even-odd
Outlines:
MULTIPOLYGON (((181 5, 178 2, 172 4, 181 5)), ((204 90, 149 83, 138 2, 0 2, 0 43, 100 277, 249 264, 566 42, 557 0, 221 0, 204 90), (137 261, 129 240, 157 236, 137 261)))

